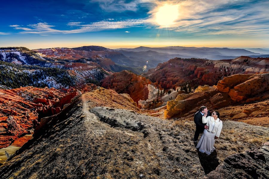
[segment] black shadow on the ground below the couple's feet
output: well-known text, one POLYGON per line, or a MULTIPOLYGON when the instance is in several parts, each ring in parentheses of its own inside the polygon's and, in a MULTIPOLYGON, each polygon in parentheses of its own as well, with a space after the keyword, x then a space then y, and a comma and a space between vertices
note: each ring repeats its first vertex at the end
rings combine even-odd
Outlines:
POLYGON ((198 157, 201 163, 201 166, 204 169, 205 175, 209 174, 211 171, 215 170, 217 166, 220 164, 217 158, 217 151, 214 150, 210 155, 206 153, 202 153, 197 149, 198 157))

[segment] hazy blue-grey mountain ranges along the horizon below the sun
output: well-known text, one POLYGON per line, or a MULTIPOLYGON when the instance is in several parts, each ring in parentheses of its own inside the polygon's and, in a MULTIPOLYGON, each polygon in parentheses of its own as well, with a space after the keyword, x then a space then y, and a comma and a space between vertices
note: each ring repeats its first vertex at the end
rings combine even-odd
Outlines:
POLYGON ((255 52, 246 49, 233 48, 209 48, 209 47, 137 47, 114 49, 133 61, 148 64, 149 68, 157 66, 171 58, 203 58, 210 60, 234 59, 240 56, 269 57, 267 49, 253 49, 255 52), (259 52, 259 53, 258 53, 259 52), (148 62, 147 62, 148 61, 148 62))

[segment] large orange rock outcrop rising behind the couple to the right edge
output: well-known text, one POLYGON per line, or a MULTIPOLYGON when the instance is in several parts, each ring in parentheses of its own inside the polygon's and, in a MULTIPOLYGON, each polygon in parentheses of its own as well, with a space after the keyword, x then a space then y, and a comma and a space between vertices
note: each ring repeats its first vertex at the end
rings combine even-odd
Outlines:
MULTIPOLYGON (((180 94, 167 102, 165 118, 185 114, 194 108, 207 106, 208 109, 219 109, 231 104, 266 100, 269 98, 269 72, 260 74, 237 74, 225 77, 216 88, 180 94)), ((248 115, 247 115, 248 116, 248 115)))

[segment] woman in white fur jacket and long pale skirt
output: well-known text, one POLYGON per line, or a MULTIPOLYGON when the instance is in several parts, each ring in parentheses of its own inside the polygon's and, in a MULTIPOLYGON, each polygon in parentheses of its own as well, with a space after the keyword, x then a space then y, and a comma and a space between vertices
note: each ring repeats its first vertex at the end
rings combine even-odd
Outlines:
POLYGON ((212 112, 212 116, 206 117, 207 114, 204 114, 202 117, 202 123, 206 123, 209 127, 204 129, 204 133, 201 136, 196 148, 200 152, 210 155, 211 152, 215 150, 214 143, 215 139, 219 138, 222 129, 222 121, 219 119, 219 112, 212 112))

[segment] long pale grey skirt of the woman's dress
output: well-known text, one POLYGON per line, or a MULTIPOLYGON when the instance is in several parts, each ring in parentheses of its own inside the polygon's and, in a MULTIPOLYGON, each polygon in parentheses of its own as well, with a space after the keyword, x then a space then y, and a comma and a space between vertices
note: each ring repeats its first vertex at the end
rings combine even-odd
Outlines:
POLYGON ((208 132, 207 129, 204 129, 204 133, 202 134, 196 148, 199 149, 200 152, 210 155, 211 152, 215 150, 215 135, 216 133, 208 132))

